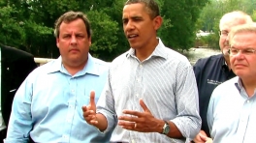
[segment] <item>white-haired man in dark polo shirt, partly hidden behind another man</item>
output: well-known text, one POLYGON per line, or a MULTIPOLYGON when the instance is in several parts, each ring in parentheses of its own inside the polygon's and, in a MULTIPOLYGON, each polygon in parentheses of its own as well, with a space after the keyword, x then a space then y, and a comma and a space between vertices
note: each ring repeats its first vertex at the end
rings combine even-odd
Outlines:
POLYGON ((248 22, 252 22, 252 19, 243 12, 236 11, 224 14, 219 22, 219 46, 222 54, 199 59, 193 67, 197 79, 200 116, 202 118, 201 131, 194 138, 196 143, 205 143, 209 136, 207 112, 212 91, 217 85, 236 76, 230 68, 228 34, 232 27, 248 22))

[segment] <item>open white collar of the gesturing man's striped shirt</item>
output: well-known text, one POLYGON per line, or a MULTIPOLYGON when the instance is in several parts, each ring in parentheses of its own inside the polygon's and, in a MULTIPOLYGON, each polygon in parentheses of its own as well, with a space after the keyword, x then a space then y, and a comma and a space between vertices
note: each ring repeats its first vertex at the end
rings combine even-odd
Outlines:
MULTIPOLYGON (((158 40, 158 44, 156 45, 154 51, 151 53, 151 55, 147 58, 151 58, 151 57, 162 57, 164 59, 167 59, 167 54, 165 52, 165 45, 164 43, 162 43, 160 38, 156 38, 158 40)), ((126 57, 136 57, 135 56, 135 49, 134 48, 130 48, 129 51, 126 54, 126 57)))

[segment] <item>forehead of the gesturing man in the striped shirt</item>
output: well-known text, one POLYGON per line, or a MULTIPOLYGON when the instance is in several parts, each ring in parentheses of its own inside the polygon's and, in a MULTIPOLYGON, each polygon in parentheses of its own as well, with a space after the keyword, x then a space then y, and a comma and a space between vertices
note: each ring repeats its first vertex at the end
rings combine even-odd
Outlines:
POLYGON ((148 15, 144 3, 129 4, 123 7, 123 17, 148 15))

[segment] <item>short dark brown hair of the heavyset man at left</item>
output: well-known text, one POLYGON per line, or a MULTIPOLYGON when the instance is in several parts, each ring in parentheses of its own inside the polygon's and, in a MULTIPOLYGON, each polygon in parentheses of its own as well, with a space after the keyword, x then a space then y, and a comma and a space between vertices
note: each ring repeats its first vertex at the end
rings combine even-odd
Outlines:
POLYGON ((91 26, 90 26, 90 21, 87 18, 86 14, 83 14, 81 12, 73 12, 73 11, 70 11, 70 12, 67 12, 65 14, 62 14, 56 20, 56 22, 55 22, 55 29, 54 29, 54 36, 56 38, 59 37, 59 27, 60 27, 60 24, 62 22, 69 23, 69 22, 72 22, 72 21, 74 21, 74 20, 76 20, 78 18, 82 19, 82 21, 84 22, 88 38, 90 38, 91 37, 91 26))

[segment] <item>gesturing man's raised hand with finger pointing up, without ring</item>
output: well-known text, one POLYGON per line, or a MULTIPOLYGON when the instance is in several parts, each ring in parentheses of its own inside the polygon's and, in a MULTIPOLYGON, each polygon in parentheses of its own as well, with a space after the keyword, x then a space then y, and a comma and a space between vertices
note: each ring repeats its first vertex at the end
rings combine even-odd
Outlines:
POLYGON ((92 91, 90 93, 90 102, 87 106, 83 105, 81 107, 82 109, 82 116, 85 119, 85 121, 93 126, 96 126, 98 124, 97 117, 96 117, 96 105, 95 105, 95 92, 92 91))

